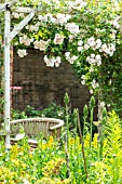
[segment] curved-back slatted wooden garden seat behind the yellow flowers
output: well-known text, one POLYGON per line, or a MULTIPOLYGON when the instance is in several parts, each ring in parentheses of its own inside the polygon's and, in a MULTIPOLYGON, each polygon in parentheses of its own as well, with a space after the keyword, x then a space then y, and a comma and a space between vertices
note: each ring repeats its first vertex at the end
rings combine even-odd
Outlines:
POLYGON ((11 142, 17 142, 19 139, 16 139, 15 136, 21 134, 22 131, 29 137, 28 143, 31 145, 37 145, 38 142, 36 141, 36 137, 41 137, 41 135, 44 139, 48 139, 51 135, 59 139, 63 126, 64 121, 55 118, 28 118, 13 120, 10 122, 11 142))

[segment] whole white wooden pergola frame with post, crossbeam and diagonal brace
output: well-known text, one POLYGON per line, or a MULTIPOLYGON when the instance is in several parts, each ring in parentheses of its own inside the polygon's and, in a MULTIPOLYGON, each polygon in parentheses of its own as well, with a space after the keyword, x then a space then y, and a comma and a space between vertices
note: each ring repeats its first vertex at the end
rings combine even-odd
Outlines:
POLYGON ((10 48, 11 41, 14 37, 28 24, 28 22, 35 16, 37 12, 41 10, 41 6, 37 9, 31 8, 13 8, 19 0, 13 0, 0 4, 0 12, 4 12, 4 124, 5 124, 5 146, 11 147, 10 143, 10 48), (27 15, 21 23, 11 31, 11 12, 26 13, 27 15))

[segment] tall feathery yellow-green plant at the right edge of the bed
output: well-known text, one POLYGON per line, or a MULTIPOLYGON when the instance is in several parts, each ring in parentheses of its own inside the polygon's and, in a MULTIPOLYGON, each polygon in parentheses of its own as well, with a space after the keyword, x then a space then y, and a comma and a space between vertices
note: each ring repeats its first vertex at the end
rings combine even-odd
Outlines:
POLYGON ((122 181, 122 121, 119 116, 109 113, 105 128, 107 139, 105 165, 111 184, 122 181))

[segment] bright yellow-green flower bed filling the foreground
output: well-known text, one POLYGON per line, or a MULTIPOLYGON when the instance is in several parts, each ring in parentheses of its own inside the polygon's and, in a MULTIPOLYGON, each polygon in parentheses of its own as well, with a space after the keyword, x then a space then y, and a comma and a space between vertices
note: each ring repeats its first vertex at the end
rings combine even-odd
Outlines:
MULTIPOLYGON (((91 103, 92 101, 93 97, 91 103)), ((31 109, 29 107, 30 111, 31 109)), ((90 110, 93 110, 91 106, 90 110)), ((85 105, 85 127, 87 127, 87 111, 85 105)), ((78 127, 77 114, 78 111, 74 109, 76 128, 78 127)), ((65 116, 70 117, 68 114, 65 116)), ((91 116, 93 116, 93 111, 91 116)), ((95 133, 93 139, 91 139, 91 130, 87 127, 83 130, 83 136, 82 132, 80 136, 77 132, 72 134, 69 128, 67 128, 68 139, 64 136, 64 132, 59 141, 53 136, 45 141, 41 136, 37 148, 28 145, 26 136, 12 145, 10 150, 6 150, 1 143, 0 182, 5 180, 10 184, 24 182, 38 184, 42 181, 46 184, 49 184, 48 182, 52 184, 57 182, 58 184, 120 184, 122 181, 122 120, 113 110, 107 115, 104 109, 103 117, 99 122, 103 126, 101 133, 95 133), (101 142, 99 142, 99 135, 101 142), (69 175, 67 175, 68 170, 69 175)), ((67 120, 69 123, 69 119, 67 120)))

